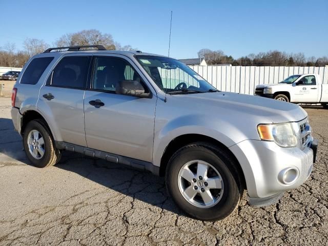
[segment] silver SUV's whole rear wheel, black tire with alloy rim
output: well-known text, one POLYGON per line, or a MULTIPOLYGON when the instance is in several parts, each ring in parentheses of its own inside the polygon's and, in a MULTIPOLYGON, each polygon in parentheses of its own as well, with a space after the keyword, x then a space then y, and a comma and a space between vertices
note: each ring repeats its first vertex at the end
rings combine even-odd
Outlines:
POLYGON ((23 144, 27 157, 35 167, 53 166, 60 160, 61 153, 56 149, 51 133, 43 120, 36 119, 27 124, 23 144))

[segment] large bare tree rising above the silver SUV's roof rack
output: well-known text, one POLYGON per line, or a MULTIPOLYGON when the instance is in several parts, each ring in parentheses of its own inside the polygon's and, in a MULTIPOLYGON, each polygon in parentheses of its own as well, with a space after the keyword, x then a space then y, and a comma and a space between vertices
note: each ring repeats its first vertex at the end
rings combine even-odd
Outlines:
POLYGON ((65 34, 57 40, 56 45, 58 47, 76 45, 103 45, 108 50, 115 49, 112 35, 109 33, 103 34, 95 29, 65 34))

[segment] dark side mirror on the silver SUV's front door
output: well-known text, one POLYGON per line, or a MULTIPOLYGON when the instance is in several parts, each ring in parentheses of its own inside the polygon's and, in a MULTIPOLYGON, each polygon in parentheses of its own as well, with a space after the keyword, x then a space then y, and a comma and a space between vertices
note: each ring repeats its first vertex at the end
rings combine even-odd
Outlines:
POLYGON ((144 86, 138 80, 121 80, 116 85, 116 94, 149 97, 150 93, 146 93, 144 86))

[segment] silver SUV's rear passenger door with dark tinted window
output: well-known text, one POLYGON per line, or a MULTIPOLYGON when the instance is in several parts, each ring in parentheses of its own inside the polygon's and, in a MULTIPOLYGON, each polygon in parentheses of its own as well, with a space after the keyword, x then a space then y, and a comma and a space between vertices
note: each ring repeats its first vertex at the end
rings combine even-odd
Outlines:
POLYGON ((91 55, 69 54, 59 60, 40 89, 37 107, 57 140, 87 146, 84 129, 84 93, 91 55))

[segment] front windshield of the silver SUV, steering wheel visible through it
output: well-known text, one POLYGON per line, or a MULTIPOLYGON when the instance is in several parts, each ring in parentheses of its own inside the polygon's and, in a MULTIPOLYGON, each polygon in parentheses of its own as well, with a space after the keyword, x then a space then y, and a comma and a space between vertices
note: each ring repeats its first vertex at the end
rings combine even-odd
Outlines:
POLYGON ((164 92, 208 92, 216 89, 181 61, 162 56, 136 55, 156 85, 164 92))

